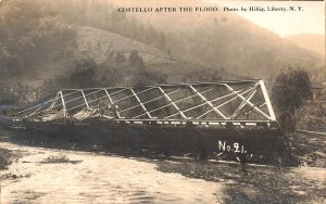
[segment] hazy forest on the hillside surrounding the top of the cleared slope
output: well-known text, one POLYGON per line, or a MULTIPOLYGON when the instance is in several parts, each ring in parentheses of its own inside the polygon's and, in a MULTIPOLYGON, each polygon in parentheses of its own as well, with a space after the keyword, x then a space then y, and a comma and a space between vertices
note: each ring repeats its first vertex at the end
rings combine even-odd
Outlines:
MULTIPOLYGON (((104 29, 145 42, 173 59, 216 64, 215 69, 227 67, 259 77, 276 75, 276 67, 288 64, 321 66, 317 55, 285 43, 236 15, 217 14, 214 18, 189 15, 185 22, 155 18, 153 25, 151 21, 117 12, 112 2, 101 0, 14 0, 3 5, 0 15, 2 76, 24 74, 53 58, 58 61, 70 55, 65 54, 67 50, 77 49, 77 26, 104 29), (183 24, 192 26, 183 26, 180 31, 183 24)), ((123 61, 123 54, 116 60, 123 61)), ((134 63, 131 60, 130 64, 134 63)))

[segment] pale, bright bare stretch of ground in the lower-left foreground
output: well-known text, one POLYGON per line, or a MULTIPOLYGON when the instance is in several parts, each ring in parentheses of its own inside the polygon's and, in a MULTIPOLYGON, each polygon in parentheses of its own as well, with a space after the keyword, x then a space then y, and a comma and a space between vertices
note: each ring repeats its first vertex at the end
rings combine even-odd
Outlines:
POLYGON ((155 161, 9 142, 1 148, 22 155, 0 173, 1 203, 216 203, 223 188, 159 171, 155 161), (68 161, 51 163, 51 157, 68 161))

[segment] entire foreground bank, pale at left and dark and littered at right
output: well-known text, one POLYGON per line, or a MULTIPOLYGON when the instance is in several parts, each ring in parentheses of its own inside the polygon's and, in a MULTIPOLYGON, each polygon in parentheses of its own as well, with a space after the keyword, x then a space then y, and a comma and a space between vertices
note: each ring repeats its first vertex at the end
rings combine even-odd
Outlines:
POLYGON ((2 203, 324 203, 326 169, 122 157, 1 142, 2 203))

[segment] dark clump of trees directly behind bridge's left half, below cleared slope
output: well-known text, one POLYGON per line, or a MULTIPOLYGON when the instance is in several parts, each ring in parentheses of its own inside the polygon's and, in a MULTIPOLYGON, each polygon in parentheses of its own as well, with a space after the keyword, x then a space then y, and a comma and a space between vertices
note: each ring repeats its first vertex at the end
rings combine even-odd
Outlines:
POLYGON ((125 60, 121 52, 114 51, 100 64, 90 58, 79 59, 75 62, 75 69, 72 73, 55 75, 45 81, 42 97, 65 88, 146 86, 166 82, 166 75, 148 68, 138 51, 131 52, 129 59, 134 58, 133 55, 134 66, 130 60, 125 60))

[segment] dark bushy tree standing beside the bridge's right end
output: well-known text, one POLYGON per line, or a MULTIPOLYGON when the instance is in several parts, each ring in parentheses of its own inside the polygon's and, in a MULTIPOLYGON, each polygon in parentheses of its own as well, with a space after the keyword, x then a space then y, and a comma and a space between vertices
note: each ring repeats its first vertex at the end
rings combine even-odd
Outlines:
POLYGON ((302 68, 281 72, 272 88, 280 129, 293 132, 304 101, 312 99, 312 86, 306 71, 302 68))

